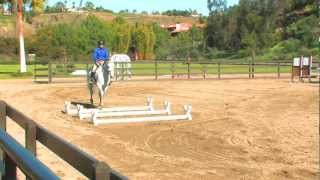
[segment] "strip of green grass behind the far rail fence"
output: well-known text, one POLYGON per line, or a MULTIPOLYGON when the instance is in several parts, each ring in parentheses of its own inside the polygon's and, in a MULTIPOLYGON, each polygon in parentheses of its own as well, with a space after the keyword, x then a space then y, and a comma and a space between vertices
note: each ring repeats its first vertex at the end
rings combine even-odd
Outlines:
MULTIPOLYGON (((17 64, 0 64, 0 79, 10 79, 10 78, 32 78, 34 74, 34 65, 28 65, 28 73, 21 75, 19 72, 19 65, 17 64)), ((86 69, 86 64, 74 64, 72 67, 67 68, 64 65, 54 64, 52 65, 52 71, 54 76, 72 77, 70 72, 76 69, 86 69)), ((89 65, 91 67, 91 65, 89 65)), ((37 68, 48 68, 47 65, 37 65, 37 68)), ((170 63, 159 63, 158 64, 158 75, 170 75, 174 70, 175 74, 187 74, 188 65, 182 63, 176 63, 174 65, 170 63)), ((202 74, 206 71, 208 74, 218 74, 218 65, 216 64, 191 64, 190 73, 191 74, 202 74)), ((221 65, 221 74, 248 74, 248 65, 221 65)), ((256 65, 255 73, 277 73, 277 66, 266 66, 266 65, 256 65)), ((285 66, 280 68, 281 73, 289 73, 291 67, 285 66)), ((121 71, 120 71, 121 72, 121 71)), ((155 74, 155 64, 154 63, 133 63, 132 64, 132 75, 150 75, 155 74)), ((38 75, 47 75, 47 70, 41 70, 37 72, 38 75)))

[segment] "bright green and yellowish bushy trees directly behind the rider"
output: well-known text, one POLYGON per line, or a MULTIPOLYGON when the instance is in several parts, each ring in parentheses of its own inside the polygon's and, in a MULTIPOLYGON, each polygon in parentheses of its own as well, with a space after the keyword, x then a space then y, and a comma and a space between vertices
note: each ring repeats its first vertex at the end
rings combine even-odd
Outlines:
POLYGON ((79 61, 90 59, 98 41, 115 53, 128 53, 134 46, 142 59, 152 59, 155 34, 152 25, 133 26, 122 17, 104 22, 88 16, 78 24, 58 24, 41 28, 27 39, 27 50, 40 57, 79 61))

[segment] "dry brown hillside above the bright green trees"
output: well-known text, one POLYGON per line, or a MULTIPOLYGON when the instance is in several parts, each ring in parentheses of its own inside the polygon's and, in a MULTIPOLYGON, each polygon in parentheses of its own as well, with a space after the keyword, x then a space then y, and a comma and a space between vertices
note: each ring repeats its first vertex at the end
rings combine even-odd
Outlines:
MULTIPOLYGON (((30 23, 25 23, 26 36, 33 34, 36 29, 53 24, 73 24, 79 23, 89 15, 95 15, 104 21, 112 21, 116 18, 116 14, 105 12, 90 12, 90 13, 50 13, 40 14, 32 19, 30 23)), ((129 23, 143 22, 143 23, 159 23, 159 24, 173 24, 173 23, 191 23, 199 24, 198 18, 183 17, 183 16, 165 16, 165 15, 138 15, 129 14, 123 15, 123 18, 129 23)), ((0 36, 14 36, 15 18, 13 16, 0 16, 0 36)))

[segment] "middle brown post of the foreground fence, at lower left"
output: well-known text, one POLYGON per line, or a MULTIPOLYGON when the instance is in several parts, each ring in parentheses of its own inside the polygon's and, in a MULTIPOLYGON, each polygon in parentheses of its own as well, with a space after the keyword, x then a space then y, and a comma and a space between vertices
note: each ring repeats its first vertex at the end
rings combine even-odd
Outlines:
POLYGON ((25 134, 26 148, 36 156, 37 151, 37 127, 34 123, 28 123, 25 134))

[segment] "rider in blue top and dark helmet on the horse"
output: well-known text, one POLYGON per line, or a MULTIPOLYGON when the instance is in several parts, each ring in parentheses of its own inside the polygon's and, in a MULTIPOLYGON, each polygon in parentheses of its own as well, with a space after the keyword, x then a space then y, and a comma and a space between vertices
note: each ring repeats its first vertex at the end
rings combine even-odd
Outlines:
POLYGON ((104 42, 99 41, 98 46, 99 47, 94 49, 92 55, 94 65, 91 71, 91 77, 94 77, 98 66, 103 65, 106 61, 109 60, 109 50, 107 48, 104 48, 104 42))

